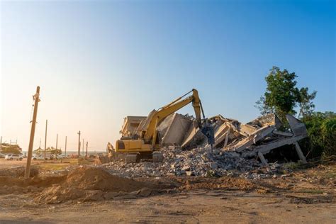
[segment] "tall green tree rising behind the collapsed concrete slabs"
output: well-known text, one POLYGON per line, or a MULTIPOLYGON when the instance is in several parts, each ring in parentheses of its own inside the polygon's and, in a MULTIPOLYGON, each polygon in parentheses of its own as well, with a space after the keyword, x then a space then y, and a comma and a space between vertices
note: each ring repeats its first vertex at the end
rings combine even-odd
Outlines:
POLYGON ((272 67, 265 77, 267 88, 263 96, 256 102, 256 107, 265 115, 276 113, 283 123, 286 124, 286 114, 296 114, 295 108, 299 106, 301 116, 311 114, 315 105, 316 91, 308 93, 308 88, 298 89, 296 87, 296 74, 286 69, 272 67))

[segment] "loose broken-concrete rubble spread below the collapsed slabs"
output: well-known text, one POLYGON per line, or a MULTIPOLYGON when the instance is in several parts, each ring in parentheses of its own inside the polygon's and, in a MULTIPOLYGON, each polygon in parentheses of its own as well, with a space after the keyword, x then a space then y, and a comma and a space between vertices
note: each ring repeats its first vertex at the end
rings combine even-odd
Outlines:
POLYGON ((165 175, 186 175, 198 177, 222 177, 233 175, 233 170, 249 172, 261 164, 256 159, 245 159, 237 152, 222 152, 209 147, 193 150, 164 147, 163 162, 126 163, 120 159, 103 164, 108 172, 121 177, 160 177, 165 175))

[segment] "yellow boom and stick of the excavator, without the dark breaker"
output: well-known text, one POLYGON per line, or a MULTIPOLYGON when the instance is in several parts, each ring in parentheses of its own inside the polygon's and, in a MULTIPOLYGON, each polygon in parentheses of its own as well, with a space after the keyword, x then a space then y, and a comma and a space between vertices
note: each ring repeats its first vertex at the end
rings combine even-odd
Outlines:
POLYGON ((144 133, 142 134, 145 142, 152 141, 152 146, 154 147, 157 138, 157 124, 159 124, 159 122, 162 121, 164 118, 167 118, 167 116, 169 116, 170 114, 174 113, 175 111, 178 111, 180 108, 186 106, 191 102, 192 106, 194 107, 198 127, 199 128, 202 127, 201 113, 203 115, 203 118, 205 118, 205 116, 201 100, 199 99, 198 96, 198 91, 196 89, 192 89, 188 93, 184 94, 184 96, 181 96, 178 99, 172 101, 172 103, 169 103, 166 106, 159 108, 159 110, 152 116, 150 123, 147 126, 147 130, 145 130, 144 133), (190 94, 191 92, 193 94, 184 99, 184 96, 190 94))

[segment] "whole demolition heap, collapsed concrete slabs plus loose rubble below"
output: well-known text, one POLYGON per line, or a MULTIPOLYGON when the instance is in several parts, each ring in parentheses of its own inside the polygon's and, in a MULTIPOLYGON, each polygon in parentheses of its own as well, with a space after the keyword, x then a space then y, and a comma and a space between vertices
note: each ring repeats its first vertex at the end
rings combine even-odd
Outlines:
MULTIPOLYGON (((208 118, 215 134, 211 151, 206 136, 195 125, 195 119, 174 113, 157 127, 163 162, 126 164, 119 160, 102 166, 111 174, 122 177, 157 177, 169 174, 213 177, 231 175, 237 171, 242 177, 259 178, 262 175, 250 171, 256 167, 276 169, 276 165, 268 164, 264 155, 278 147, 294 145, 298 158, 301 162, 306 162, 298 145, 298 140, 307 137, 306 126, 291 115, 286 118, 291 128, 282 128, 281 121, 274 114, 259 117, 246 124, 220 115, 208 118)), ((138 129, 145 128, 148 120, 143 119, 141 128, 138 129)))

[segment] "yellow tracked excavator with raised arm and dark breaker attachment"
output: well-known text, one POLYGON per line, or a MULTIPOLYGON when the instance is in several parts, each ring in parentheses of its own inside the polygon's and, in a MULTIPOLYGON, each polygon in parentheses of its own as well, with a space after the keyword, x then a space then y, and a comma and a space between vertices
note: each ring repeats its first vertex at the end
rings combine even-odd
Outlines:
POLYGON ((157 133, 157 125, 170 114, 178 111, 180 108, 192 103, 196 114, 196 122, 202 133, 208 137, 208 142, 213 142, 213 130, 207 125, 206 120, 202 124, 201 113, 205 119, 201 100, 198 96, 198 91, 192 89, 188 93, 172 101, 172 103, 162 106, 158 111, 153 111, 147 117, 147 127, 140 131, 140 136, 122 137, 116 141, 116 155, 126 155, 126 162, 140 162, 140 159, 152 159, 152 162, 162 162, 162 153, 155 152, 159 147, 159 138, 157 133), (191 96, 186 97, 191 94, 191 96), (210 131, 209 131, 210 130, 210 131))

